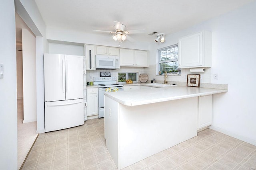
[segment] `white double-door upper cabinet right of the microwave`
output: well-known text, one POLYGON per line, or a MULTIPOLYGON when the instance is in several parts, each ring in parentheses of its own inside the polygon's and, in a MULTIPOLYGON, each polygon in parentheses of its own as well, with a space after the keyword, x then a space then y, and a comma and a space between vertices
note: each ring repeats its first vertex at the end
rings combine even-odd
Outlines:
POLYGON ((120 66, 148 66, 148 52, 120 49, 120 66))

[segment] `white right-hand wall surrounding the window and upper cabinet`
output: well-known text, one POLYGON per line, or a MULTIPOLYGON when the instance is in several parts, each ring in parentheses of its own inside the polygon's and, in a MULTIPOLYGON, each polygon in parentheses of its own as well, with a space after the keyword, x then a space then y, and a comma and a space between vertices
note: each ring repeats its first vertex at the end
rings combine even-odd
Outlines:
MULTIPOLYGON (((180 37, 203 29, 212 31, 212 68, 203 77, 216 84, 228 84, 228 92, 213 97, 212 128, 256 145, 255 72, 256 72, 256 2, 212 20, 194 25, 166 37, 165 43, 152 43, 150 65, 155 71, 157 49, 178 43, 180 37), (218 74, 213 80, 212 74, 218 74)), ((146 69, 147 70, 147 69, 146 69)), ((168 76, 169 81, 186 81, 182 76, 168 76), (178 78, 177 78, 178 77, 178 78), (180 80, 179 80, 180 79, 180 80)), ((153 75, 155 76, 155 74, 153 75)), ((156 76, 156 80, 163 80, 156 76)), ((203 78, 204 81, 204 78, 203 78)))

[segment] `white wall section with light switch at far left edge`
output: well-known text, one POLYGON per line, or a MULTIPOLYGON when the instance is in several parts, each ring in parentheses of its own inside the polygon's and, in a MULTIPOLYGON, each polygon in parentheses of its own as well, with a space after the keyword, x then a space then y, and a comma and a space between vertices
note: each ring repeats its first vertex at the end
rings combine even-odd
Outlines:
POLYGON ((4 26, 0 27, 0 63, 4 64, 4 78, 0 78, 0 167, 5 170, 18 168, 14 10, 14 1, 1 0, 0 21, 4 26))

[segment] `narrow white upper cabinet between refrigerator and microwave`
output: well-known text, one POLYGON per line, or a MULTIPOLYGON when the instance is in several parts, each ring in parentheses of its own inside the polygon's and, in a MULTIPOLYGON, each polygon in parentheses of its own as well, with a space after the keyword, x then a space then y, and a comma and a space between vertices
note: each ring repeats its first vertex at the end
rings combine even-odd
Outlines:
POLYGON ((86 58, 86 70, 96 70, 95 66, 95 46, 84 45, 84 54, 86 58))

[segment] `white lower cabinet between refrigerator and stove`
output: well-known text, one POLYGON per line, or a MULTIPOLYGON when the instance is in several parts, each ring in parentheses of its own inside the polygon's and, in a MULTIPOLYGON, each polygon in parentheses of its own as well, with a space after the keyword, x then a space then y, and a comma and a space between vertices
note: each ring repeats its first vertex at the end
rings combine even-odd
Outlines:
POLYGON ((87 116, 98 115, 98 88, 87 89, 87 116))

